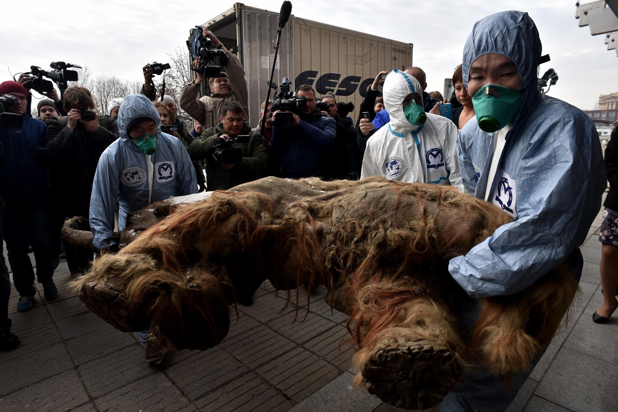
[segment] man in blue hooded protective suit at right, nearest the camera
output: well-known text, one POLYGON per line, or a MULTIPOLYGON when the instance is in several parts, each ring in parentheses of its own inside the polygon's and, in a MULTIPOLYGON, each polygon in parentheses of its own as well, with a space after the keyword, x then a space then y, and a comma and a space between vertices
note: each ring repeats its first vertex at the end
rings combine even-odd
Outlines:
MULTIPOLYGON (((576 107, 539 93, 540 61, 541 41, 527 13, 485 17, 465 44, 464 85, 477 121, 457 141, 464 188, 515 219, 449 263, 471 297, 458 314, 467 328, 478 313, 475 298, 517 293, 559 264, 579 280, 578 246, 606 187, 595 125, 576 107)), ((504 411, 528 374, 515 374, 507 386, 468 368, 442 412, 504 411)))

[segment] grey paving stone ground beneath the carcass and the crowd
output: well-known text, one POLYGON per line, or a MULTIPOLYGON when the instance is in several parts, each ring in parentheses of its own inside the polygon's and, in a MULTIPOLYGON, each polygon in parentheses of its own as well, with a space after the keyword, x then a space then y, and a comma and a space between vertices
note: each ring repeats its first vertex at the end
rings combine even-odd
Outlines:
MULTIPOLYGON (((509 412, 618 411, 618 320, 591 321, 599 285, 600 212, 582 246, 580 287, 567 326, 509 407, 509 412)), ((6 250, 6 249, 5 249, 6 250)), ((66 263, 54 279, 59 298, 36 296, 28 313, 9 313, 22 344, 0 352, 1 412, 318 411, 392 412, 365 390, 352 389, 353 351, 347 316, 331 310, 326 290, 294 299, 266 282, 253 306, 238 307, 229 335, 208 351, 172 351, 146 364, 137 334, 119 332, 88 311, 70 290, 66 263), (306 315, 306 316, 305 316, 306 315)), ((439 408, 436 412, 439 412, 439 408)))

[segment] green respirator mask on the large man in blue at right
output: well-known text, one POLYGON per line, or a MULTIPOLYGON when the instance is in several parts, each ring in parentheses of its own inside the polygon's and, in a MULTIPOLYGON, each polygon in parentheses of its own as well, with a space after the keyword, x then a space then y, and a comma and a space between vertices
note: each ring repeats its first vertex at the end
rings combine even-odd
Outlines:
POLYGON ((478 127, 493 133, 509 124, 522 106, 522 93, 498 85, 485 85, 472 96, 478 127))

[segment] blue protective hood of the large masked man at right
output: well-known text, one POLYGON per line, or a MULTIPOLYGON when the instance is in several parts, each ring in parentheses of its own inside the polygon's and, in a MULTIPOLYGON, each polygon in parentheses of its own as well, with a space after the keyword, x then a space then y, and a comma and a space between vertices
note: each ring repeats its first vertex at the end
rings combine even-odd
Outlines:
POLYGON ((514 62, 522 79, 522 107, 512 120, 512 124, 517 125, 535 109, 541 99, 536 88, 541 39, 528 13, 500 12, 475 23, 464 46, 462 74, 466 87, 473 62, 489 53, 501 54, 514 62))

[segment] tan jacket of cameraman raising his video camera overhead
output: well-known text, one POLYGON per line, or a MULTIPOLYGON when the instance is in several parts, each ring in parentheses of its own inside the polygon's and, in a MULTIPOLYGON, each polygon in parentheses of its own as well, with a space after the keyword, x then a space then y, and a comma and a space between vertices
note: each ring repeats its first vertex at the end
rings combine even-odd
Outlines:
POLYGON ((226 50, 226 54, 228 59, 225 72, 231 87, 229 95, 212 95, 197 98, 201 85, 195 85, 193 82, 184 86, 182 94, 180 95, 180 107, 182 107, 189 116, 200 122, 205 129, 216 127, 216 125, 219 124, 221 107, 228 101, 237 101, 240 103, 245 114, 245 119, 249 118, 249 112, 247 110, 249 91, 247 88, 247 80, 245 80, 245 69, 242 68, 242 64, 240 64, 238 57, 236 57, 234 53, 226 50))

